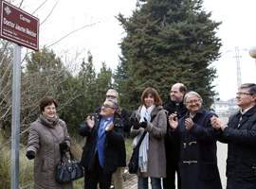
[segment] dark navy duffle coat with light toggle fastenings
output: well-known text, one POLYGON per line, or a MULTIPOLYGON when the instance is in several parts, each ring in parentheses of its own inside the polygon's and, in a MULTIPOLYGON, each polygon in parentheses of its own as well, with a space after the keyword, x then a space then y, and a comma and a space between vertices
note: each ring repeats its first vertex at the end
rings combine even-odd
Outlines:
POLYGON ((186 113, 171 134, 180 136, 180 161, 182 189, 222 189, 217 166, 216 134, 210 125, 212 112, 200 109, 192 118, 192 129, 186 130, 186 113))

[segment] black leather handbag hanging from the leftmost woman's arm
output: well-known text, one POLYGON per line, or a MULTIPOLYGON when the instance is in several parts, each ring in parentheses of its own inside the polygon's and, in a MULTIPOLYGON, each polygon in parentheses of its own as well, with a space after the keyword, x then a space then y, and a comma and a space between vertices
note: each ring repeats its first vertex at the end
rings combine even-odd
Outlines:
POLYGON ((56 166, 56 180, 60 183, 78 180, 83 177, 82 164, 74 159, 70 150, 68 152, 70 159, 65 163, 64 154, 61 152, 61 161, 56 166))

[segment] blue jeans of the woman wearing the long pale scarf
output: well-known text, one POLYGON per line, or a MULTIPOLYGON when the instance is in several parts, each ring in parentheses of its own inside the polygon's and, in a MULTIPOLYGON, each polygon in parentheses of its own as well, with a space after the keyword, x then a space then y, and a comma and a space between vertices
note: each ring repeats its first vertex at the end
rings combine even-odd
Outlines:
MULTIPOLYGON (((152 189, 162 189, 161 179, 150 178, 152 189)), ((149 178, 137 178, 137 189, 148 189, 149 188, 149 178)))

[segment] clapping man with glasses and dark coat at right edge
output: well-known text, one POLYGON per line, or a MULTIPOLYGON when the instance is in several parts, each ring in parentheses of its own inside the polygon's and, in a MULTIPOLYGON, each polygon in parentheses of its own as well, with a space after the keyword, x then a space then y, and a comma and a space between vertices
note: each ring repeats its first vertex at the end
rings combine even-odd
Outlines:
POLYGON ((228 144, 227 189, 256 188, 256 84, 238 88, 237 105, 241 108, 229 122, 211 118, 218 140, 228 144))

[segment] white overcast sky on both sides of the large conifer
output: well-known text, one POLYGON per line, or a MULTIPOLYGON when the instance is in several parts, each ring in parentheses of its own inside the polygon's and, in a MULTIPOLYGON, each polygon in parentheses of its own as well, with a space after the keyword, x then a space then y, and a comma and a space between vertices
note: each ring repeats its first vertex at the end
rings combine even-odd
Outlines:
MULTIPOLYGON (((136 2, 25 0, 23 6, 25 11, 40 19, 40 47, 49 46, 62 59, 76 59, 79 65, 90 51, 99 71, 102 61, 112 70, 119 64, 119 43, 125 33, 115 16, 119 12, 130 16, 136 9, 136 2), (45 4, 37 9, 43 2, 45 4), (55 9, 49 14, 55 4, 55 9)), ((237 67, 240 67, 242 83, 256 82, 256 60, 248 54, 248 50, 256 46, 256 1, 205 0, 203 8, 211 11, 211 20, 222 22, 217 36, 223 46, 221 58, 212 63, 217 69, 217 78, 212 84, 216 85, 220 99, 228 100, 237 92, 237 67)))

